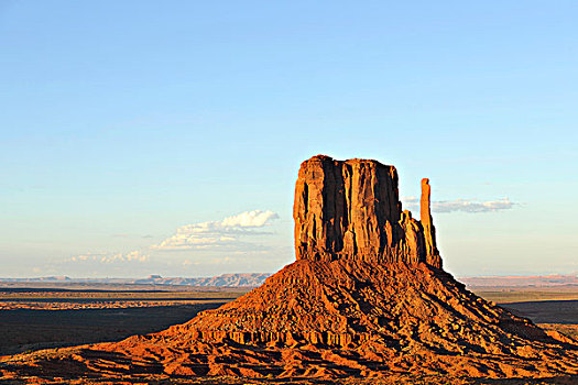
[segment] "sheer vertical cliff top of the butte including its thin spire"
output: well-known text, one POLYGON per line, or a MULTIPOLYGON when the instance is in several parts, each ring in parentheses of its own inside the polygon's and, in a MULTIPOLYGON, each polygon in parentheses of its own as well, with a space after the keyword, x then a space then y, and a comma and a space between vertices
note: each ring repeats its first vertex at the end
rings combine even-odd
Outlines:
POLYGON ((397 172, 377 161, 305 161, 295 186, 297 260, 337 258, 428 263, 440 267, 429 213, 429 185, 422 184, 422 221, 402 212, 397 172))

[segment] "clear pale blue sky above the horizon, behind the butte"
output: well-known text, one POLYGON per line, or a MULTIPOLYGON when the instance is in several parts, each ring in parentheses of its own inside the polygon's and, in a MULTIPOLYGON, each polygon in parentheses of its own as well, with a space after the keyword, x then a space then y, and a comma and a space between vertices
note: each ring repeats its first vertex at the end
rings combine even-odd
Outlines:
POLYGON ((0 276, 274 272, 318 153, 429 177, 458 276, 576 273, 577 12, 4 0, 0 276))

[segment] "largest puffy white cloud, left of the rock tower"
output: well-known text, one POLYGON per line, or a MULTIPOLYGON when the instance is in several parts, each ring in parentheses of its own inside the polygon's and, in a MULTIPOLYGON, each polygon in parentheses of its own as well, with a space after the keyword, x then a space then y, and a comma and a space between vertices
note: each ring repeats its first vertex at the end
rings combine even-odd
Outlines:
MULTIPOLYGON (((216 248, 239 249, 249 245, 241 237, 266 234, 257 229, 271 224, 279 216, 273 211, 253 210, 227 217, 221 221, 186 224, 176 230, 176 234, 159 244, 153 250, 203 250, 216 248)), ((251 245, 254 248, 253 245, 251 245)))

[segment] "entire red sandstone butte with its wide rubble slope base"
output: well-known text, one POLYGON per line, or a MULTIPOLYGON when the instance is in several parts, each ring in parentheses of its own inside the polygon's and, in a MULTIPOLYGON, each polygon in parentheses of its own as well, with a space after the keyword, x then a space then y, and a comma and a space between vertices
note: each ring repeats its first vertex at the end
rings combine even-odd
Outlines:
POLYGON ((159 333, 4 359, 2 373, 576 381, 576 341, 443 270, 428 179, 422 189, 417 220, 402 210, 395 167, 314 156, 295 187, 296 261, 262 286, 159 333))

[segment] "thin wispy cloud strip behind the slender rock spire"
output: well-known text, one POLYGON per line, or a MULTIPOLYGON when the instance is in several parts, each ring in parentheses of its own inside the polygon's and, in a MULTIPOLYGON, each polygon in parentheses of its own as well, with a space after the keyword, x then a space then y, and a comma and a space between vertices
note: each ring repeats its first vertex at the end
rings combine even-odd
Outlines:
MULTIPOLYGON (((402 198, 404 206, 411 209, 419 207, 419 200, 416 197, 402 198)), ((432 211, 434 212, 492 212, 512 209, 515 202, 509 198, 498 200, 479 201, 476 199, 455 199, 455 200, 439 200, 432 202, 432 211)))

